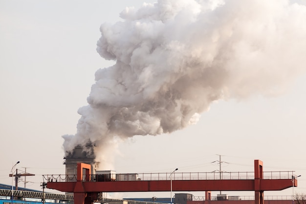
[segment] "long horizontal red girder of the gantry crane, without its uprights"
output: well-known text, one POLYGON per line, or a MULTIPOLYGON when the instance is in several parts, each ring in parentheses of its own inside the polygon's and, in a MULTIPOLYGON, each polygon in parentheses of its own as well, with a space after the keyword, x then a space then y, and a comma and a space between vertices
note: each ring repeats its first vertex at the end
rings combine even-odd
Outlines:
MULTIPOLYGON (((81 181, 80 181, 81 182, 81 181)), ((254 180, 175 180, 173 191, 255 191, 254 180)), ((47 182, 47 188, 75 192, 78 182, 47 182)), ((170 181, 83 181, 78 192, 170 191, 170 181)), ((258 191, 276 191, 292 187, 291 179, 260 180, 258 191)))

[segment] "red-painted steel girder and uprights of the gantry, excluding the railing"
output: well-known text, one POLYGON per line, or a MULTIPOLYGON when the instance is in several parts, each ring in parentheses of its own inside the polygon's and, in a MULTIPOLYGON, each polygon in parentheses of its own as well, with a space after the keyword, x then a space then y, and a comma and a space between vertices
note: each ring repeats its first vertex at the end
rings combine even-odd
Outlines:
MULTIPOLYGON (((263 179, 262 161, 254 160, 254 180, 173 180, 173 191, 255 191, 255 204, 263 204, 263 191, 297 186, 291 179, 263 179)), ((74 193, 75 204, 92 204, 98 192, 169 191, 165 181, 90 181, 90 165, 78 163, 76 182, 47 182, 47 188, 74 193), (85 178, 83 179, 85 169, 85 178)))

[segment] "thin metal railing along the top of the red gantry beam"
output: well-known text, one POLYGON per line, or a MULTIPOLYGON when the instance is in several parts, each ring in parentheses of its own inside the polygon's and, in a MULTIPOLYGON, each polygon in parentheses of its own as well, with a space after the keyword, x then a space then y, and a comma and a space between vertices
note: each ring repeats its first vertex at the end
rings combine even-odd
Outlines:
MULTIPOLYGON (((263 172, 263 179, 292 179, 294 171, 269 171, 263 172)), ((138 173, 132 181, 164 181, 170 180, 171 173, 138 173)), ((127 174, 116 174, 127 175, 127 174)), ((254 180, 254 172, 189 172, 189 173, 173 173, 172 180, 254 180)), ((111 175, 110 175, 111 176, 111 175)), ((97 181, 97 175, 83 176, 83 181, 97 181), (88 177, 88 176, 87 176, 88 177)), ((44 181, 48 182, 75 182, 76 175, 43 175, 44 181)), ((117 177, 123 178, 123 177, 117 177)), ((98 180, 99 181, 99 180, 98 180)), ((126 181, 126 180, 103 180, 103 181, 126 181)), ((131 180, 128 180, 131 181, 131 180)))

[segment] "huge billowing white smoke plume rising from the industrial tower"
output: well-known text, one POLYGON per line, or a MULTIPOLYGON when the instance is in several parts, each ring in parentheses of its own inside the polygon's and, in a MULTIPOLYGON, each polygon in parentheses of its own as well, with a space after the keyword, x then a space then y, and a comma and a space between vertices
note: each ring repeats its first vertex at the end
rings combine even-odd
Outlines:
MULTIPOLYGON (((213 101, 281 93, 305 71, 306 6, 289 0, 159 0, 101 25, 101 57, 65 152, 197 123, 213 101)), ((104 158, 104 157, 107 157, 104 158)))

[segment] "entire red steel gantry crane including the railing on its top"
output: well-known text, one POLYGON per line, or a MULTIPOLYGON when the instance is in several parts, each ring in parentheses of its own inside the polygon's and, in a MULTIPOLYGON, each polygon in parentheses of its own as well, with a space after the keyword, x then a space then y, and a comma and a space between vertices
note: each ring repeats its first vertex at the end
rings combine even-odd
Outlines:
MULTIPOLYGON (((263 204, 264 191, 297 187, 292 172, 263 172, 262 161, 254 160, 254 172, 229 172, 226 178, 212 178, 211 173, 175 173, 171 178, 172 191, 254 191, 255 204, 263 204)), ((75 204, 92 204, 100 192, 157 192, 170 191, 170 174, 146 174, 134 181, 92 181, 90 164, 78 163, 77 176, 44 175, 47 188, 74 194, 75 204), (153 176, 154 175, 154 176, 153 176)))

